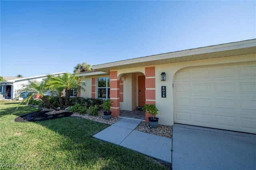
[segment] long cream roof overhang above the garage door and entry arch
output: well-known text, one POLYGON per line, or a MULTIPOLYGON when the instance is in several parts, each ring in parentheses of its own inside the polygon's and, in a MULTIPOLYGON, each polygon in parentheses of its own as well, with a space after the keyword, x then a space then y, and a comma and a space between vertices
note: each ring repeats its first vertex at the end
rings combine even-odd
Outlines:
POLYGON ((229 57, 234 55, 245 55, 252 53, 256 53, 256 39, 225 43, 220 45, 212 45, 195 49, 187 49, 183 51, 163 53, 147 57, 139 57, 100 65, 93 65, 92 68, 98 71, 109 73, 110 70, 117 69, 144 67, 150 65, 211 59, 218 57, 229 57))

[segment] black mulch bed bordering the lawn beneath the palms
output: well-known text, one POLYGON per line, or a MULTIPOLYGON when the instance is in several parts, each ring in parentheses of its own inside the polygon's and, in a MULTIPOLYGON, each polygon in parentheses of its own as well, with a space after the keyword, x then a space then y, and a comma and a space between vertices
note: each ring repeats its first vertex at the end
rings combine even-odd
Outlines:
POLYGON ((26 115, 22 115, 14 119, 15 122, 35 122, 35 121, 46 121, 50 119, 58 119, 62 117, 70 117, 72 112, 62 112, 54 115, 47 115, 49 111, 37 111, 34 113, 29 113, 26 115))

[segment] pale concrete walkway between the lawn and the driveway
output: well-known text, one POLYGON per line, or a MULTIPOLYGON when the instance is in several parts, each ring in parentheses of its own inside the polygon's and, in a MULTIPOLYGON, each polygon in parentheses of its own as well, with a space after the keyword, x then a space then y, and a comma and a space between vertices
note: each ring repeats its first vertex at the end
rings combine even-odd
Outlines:
POLYGON ((134 130, 140 122, 123 118, 93 137, 171 163, 172 139, 134 130))

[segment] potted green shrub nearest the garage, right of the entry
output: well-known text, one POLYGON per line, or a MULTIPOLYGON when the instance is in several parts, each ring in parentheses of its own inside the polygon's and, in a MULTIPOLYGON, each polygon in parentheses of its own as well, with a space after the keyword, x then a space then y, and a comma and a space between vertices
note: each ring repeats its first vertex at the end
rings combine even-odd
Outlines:
POLYGON ((143 108, 143 111, 150 113, 152 115, 152 117, 148 118, 149 121, 149 125, 152 128, 157 128, 158 127, 158 117, 155 117, 158 114, 158 109, 156 108, 155 105, 148 105, 146 104, 143 108))

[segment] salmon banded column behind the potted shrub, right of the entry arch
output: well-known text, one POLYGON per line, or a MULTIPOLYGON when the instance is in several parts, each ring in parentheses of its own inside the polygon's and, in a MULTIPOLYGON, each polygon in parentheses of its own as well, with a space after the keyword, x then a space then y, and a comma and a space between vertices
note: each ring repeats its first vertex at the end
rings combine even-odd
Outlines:
MULTIPOLYGON (((145 103, 150 105, 156 105, 156 74, 155 67, 145 68, 145 103)), ((146 122, 148 122, 148 117, 152 117, 151 114, 145 113, 146 122)))

